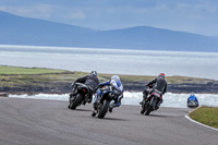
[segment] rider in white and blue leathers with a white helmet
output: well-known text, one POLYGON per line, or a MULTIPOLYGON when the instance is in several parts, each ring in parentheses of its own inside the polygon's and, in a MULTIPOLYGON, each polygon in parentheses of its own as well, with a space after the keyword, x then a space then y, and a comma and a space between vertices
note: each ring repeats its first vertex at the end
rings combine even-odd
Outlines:
POLYGON ((113 104, 110 105, 109 107, 109 112, 112 112, 112 109, 114 107, 120 107, 121 105, 121 99, 123 98, 123 85, 120 81, 120 77, 118 75, 112 75, 110 80, 108 80, 107 82, 105 83, 100 83, 97 87, 96 87, 96 92, 97 92, 97 95, 95 96, 95 99, 94 99, 94 102, 93 102, 93 108, 94 108, 94 112, 97 112, 96 110, 96 104, 97 104, 97 100, 98 98, 101 96, 102 92, 98 88, 104 88, 106 86, 116 86, 117 89, 120 90, 120 95, 118 96, 118 99, 114 100, 113 104))

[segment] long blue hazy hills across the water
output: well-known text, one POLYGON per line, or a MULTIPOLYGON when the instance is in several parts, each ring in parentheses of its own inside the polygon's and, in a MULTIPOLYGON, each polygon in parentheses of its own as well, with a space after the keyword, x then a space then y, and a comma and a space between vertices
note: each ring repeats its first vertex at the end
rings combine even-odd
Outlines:
POLYGON ((0 11, 0 45, 218 52, 217 37, 150 26, 95 31, 22 17, 2 11, 0 11))

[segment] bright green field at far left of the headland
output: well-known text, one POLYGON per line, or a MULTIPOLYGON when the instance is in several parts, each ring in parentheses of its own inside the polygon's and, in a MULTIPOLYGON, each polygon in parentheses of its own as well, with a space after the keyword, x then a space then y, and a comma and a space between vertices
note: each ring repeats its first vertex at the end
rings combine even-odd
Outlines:
POLYGON ((45 73, 62 73, 63 70, 41 69, 41 68, 16 68, 0 65, 0 74, 45 74, 45 73))

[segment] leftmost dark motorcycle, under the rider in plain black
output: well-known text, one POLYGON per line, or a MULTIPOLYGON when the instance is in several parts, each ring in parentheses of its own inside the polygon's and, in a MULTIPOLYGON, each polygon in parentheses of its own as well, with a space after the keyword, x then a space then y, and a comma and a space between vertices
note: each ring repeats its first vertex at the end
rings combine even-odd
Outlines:
POLYGON ((72 90, 72 95, 69 97, 69 109, 76 109, 80 105, 85 105, 87 98, 89 97, 89 88, 85 84, 82 83, 75 83, 77 87, 72 90))

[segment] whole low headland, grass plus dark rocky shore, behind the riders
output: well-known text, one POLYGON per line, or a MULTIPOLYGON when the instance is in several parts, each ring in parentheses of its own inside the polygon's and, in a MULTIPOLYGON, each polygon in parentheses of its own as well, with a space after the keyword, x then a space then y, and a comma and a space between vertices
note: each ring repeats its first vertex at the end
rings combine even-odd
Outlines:
MULTIPOLYGON (((33 90, 37 93, 65 93, 70 92, 69 87, 71 86, 71 83, 87 74, 88 73, 86 72, 77 71, 0 65, 0 92, 13 94, 33 90)), ((113 74, 98 73, 98 78, 101 83, 109 80, 112 75, 113 74)), ((123 74, 119 74, 119 76, 123 83, 124 89, 131 92, 143 92, 145 89, 145 84, 157 77, 123 74)), ((218 93, 218 81, 186 76, 167 76, 166 80, 169 86, 168 92, 218 93)))

